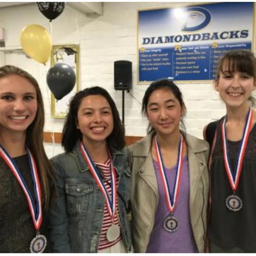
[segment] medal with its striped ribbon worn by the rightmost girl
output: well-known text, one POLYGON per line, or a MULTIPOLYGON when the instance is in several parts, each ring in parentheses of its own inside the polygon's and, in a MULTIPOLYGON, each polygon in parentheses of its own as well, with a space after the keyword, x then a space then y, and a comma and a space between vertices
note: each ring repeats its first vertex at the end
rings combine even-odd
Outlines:
POLYGON ((228 196, 226 198, 225 204, 226 204, 226 207, 232 211, 239 211, 243 206, 242 199, 239 196, 235 195, 235 193, 239 184, 239 179, 240 179, 242 167, 243 167, 245 149, 246 149, 246 145, 248 142, 248 138, 249 138, 250 130, 252 126, 252 117, 253 117, 252 114, 253 114, 253 111, 250 108, 246 116, 243 136, 240 142, 239 151, 237 155, 237 163, 236 163, 234 172, 232 172, 231 165, 229 162, 229 156, 228 156, 227 136, 226 136, 226 127, 225 127, 226 117, 224 118, 222 127, 221 127, 224 165, 225 165, 225 170, 229 180, 229 184, 233 190, 233 195, 228 196))

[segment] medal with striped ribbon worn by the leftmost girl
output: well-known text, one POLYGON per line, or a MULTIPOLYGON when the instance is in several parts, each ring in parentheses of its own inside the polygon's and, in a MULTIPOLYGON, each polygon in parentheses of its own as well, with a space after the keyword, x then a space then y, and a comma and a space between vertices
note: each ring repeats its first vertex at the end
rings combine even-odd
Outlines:
POLYGON ((31 170, 31 176, 32 180, 34 183, 34 191, 35 191, 35 199, 36 199, 36 205, 34 204, 33 197, 31 195, 30 190, 28 189, 28 186, 20 174, 20 171, 18 167, 16 166, 15 162, 11 158, 11 156, 8 154, 8 152, 5 150, 5 148, 0 145, 0 156, 3 158, 3 160, 6 162, 6 164, 9 166, 11 169, 13 175, 17 179, 19 185, 22 187, 24 194, 26 196, 28 205, 29 205, 29 210, 31 214, 31 218, 34 224, 34 227, 36 229, 36 237, 33 238, 30 244, 30 251, 31 252, 42 252, 44 251, 46 244, 47 244, 47 239, 45 236, 39 234, 39 228, 41 226, 42 222, 42 205, 41 205, 41 188, 40 188, 40 181, 38 177, 38 172, 36 168, 36 163, 35 159, 30 153, 29 149, 27 148, 27 154, 29 158, 29 164, 30 164, 30 170, 31 170), (36 249, 38 248, 38 249, 36 249), (33 250, 33 251, 32 251, 33 250), (38 251, 37 251, 38 250, 38 251))

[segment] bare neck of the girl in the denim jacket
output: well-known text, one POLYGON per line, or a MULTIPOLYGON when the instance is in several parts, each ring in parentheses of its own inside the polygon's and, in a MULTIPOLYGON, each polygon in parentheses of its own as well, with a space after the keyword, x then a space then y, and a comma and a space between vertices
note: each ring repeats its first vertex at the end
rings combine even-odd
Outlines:
POLYGON ((104 163, 109 158, 106 141, 90 143, 88 140, 85 141, 83 139, 83 145, 93 161, 104 163))

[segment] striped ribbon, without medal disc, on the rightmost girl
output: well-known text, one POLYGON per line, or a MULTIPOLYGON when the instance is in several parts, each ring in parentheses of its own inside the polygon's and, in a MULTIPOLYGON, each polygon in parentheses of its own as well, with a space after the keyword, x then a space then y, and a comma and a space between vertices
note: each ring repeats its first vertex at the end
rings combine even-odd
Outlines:
POLYGON ((239 151, 238 151, 238 155, 237 155, 237 164, 235 166, 234 173, 231 170, 231 165, 230 165, 229 156, 228 156, 227 136, 226 136, 226 127, 225 127, 227 117, 224 118, 224 121, 223 121, 222 127, 221 127, 224 165, 225 165, 227 177, 229 179, 229 183, 230 183, 233 191, 236 191, 238 184, 239 184, 239 179, 240 179, 244 155, 245 155, 245 148, 246 148, 246 145, 248 142, 248 138, 249 138, 249 134, 250 134, 251 126, 252 126, 252 113, 253 113, 253 111, 250 108, 250 110, 248 111, 248 114, 246 116, 246 120, 245 120, 243 136, 242 136, 242 140, 241 140, 240 146, 239 146, 239 151))

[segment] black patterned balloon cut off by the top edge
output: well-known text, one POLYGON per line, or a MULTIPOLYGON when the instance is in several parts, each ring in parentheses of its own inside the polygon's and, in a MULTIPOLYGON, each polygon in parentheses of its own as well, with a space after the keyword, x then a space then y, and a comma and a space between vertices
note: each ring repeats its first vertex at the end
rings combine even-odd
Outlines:
POLYGON ((39 11, 47 18, 57 18, 65 8, 65 2, 37 2, 39 11))

